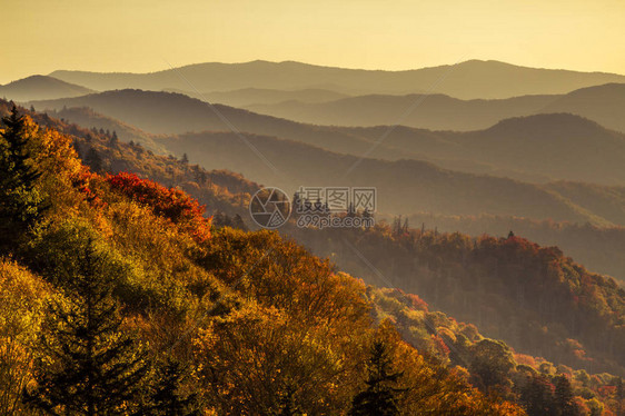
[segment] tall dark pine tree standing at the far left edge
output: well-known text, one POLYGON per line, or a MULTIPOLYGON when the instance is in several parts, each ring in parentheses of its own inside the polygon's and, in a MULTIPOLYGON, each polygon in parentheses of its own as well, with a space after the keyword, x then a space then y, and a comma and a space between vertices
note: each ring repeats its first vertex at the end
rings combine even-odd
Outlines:
POLYGON ((34 166, 31 139, 34 137, 24 116, 13 105, 2 119, 0 135, 0 249, 12 249, 31 231, 47 208, 37 187, 41 172, 34 166))

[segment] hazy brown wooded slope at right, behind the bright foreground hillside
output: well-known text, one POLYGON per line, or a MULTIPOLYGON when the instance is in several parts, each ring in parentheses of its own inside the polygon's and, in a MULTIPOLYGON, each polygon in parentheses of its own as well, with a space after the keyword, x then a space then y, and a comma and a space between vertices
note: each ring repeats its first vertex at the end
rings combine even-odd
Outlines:
POLYGON ((341 269, 370 284, 419 294, 516 350, 575 368, 625 374, 625 290, 557 247, 513 235, 469 238, 401 224, 290 232, 341 269))

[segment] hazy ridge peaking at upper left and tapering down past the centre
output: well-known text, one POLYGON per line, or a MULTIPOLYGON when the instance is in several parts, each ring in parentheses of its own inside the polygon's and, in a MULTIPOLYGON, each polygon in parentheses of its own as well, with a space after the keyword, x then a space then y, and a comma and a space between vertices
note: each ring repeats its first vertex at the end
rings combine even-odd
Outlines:
MULTIPOLYGON (((60 100, 32 101, 37 110, 90 107, 96 112, 112 117, 153 135, 176 135, 188 131, 240 131, 292 138, 337 152, 364 151, 369 139, 343 131, 257 115, 222 105, 208 105, 186 95, 141 90, 117 90, 60 100)), ((70 118, 71 119, 71 118, 70 118)), ((77 118, 75 122, 79 122, 77 118)), ((91 127, 91 126, 83 126, 91 127)), ((406 152, 380 149, 381 157, 400 158, 406 152)))

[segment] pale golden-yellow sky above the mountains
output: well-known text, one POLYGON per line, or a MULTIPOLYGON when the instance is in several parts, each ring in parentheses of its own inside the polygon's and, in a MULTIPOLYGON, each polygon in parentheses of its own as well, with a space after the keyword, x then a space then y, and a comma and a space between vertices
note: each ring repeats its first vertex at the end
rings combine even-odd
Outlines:
POLYGON ((0 83, 255 59, 625 73, 623 0, 0 0, 0 83), (167 61, 167 62, 166 62, 167 61))

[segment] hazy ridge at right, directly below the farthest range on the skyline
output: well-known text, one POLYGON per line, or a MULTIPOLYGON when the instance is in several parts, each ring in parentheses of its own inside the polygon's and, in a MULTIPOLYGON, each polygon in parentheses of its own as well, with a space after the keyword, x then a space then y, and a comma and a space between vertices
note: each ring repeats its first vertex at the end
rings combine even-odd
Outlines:
POLYGON ((571 112, 625 131, 625 83, 567 95, 460 100, 444 95, 359 96, 327 102, 289 100, 246 109, 300 122, 334 126, 403 125, 431 130, 476 130, 499 120, 539 112, 571 112))

